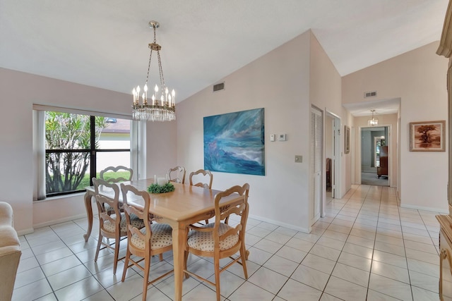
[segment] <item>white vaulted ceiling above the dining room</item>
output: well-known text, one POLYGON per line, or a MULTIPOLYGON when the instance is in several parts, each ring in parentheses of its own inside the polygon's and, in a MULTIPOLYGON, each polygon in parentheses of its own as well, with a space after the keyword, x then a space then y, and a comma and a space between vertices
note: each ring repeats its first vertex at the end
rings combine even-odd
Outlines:
POLYGON ((0 67, 131 93, 145 81, 148 22, 157 20, 165 81, 179 102, 309 29, 347 75, 438 40, 447 4, 0 0, 0 67))

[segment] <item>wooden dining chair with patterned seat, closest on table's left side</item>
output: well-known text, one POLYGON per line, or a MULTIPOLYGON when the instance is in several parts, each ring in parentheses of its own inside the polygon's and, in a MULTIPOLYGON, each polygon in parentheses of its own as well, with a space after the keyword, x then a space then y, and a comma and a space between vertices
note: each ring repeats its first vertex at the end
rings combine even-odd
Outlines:
MULTIPOLYGON (((143 301, 146 300, 148 293, 148 285, 155 283, 155 281, 171 274, 174 270, 167 271, 165 274, 158 276, 149 281, 150 263, 153 255, 162 254, 172 250, 172 228, 166 223, 152 223, 153 215, 149 214, 150 196, 145 190, 137 190, 131 185, 124 185, 121 183, 122 202, 124 204, 124 214, 127 221, 127 252, 124 260, 124 271, 122 272, 121 281, 124 282, 126 278, 126 271, 131 266, 136 266, 141 271, 144 271, 143 278, 143 301), (128 204, 127 199, 140 199, 144 206, 141 208, 133 207, 128 204), (144 228, 137 228, 131 223, 131 216, 138 216, 144 221, 144 228), (135 257, 141 257, 137 260, 135 257), (140 262, 144 264, 141 265, 140 262)), ((162 256, 160 256, 160 261, 162 256)))

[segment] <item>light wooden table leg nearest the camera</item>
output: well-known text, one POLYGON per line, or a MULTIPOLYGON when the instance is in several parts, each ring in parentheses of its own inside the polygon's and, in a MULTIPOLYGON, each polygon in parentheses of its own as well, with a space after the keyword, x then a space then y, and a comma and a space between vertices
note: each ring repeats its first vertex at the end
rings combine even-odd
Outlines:
POLYGON ((184 279, 184 250, 186 228, 179 225, 172 228, 172 252, 174 263, 174 301, 182 300, 182 280, 184 279))

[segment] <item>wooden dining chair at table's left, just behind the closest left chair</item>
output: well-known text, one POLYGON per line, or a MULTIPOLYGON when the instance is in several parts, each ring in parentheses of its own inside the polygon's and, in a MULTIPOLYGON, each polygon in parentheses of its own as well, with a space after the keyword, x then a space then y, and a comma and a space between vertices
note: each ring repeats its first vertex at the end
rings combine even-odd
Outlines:
MULTIPOLYGON (((100 250, 105 248, 114 250, 113 274, 116 274, 118 261, 124 259, 124 257, 118 258, 121 238, 127 236, 126 219, 124 213, 119 211, 119 186, 97 178, 93 178, 93 183, 99 214, 99 238, 97 238, 94 262, 97 262, 100 250), (104 242, 104 238, 114 238, 114 242, 112 244, 109 241, 104 242), (114 247, 112 247, 113 244, 114 247)), ((131 223, 137 228, 144 227, 143 220, 138 219, 137 216, 132 217, 131 223)))

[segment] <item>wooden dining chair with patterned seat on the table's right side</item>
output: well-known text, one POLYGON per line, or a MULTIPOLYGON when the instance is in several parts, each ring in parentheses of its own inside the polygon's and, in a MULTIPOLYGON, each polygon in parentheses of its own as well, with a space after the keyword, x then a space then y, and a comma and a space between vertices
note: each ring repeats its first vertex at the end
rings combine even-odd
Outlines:
POLYGON ((245 229, 248 219, 249 184, 243 186, 233 186, 223 192, 215 195, 215 222, 203 226, 189 225, 189 233, 186 240, 186 250, 184 252, 184 272, 186 278, 194 276, 201 281, 206 281, 215 286, 217 300, 220 300, 220 273, 232 266, 234 263, 242 264, 244 276, 248 278, 246 271, 246 248, 245 248, 245 229), (225 206, 220 204, 221 199, 230 195, 237 194, 242 198, 242 202, 237 206, 225 206), (230 226, 230 217, 237 216, 239 223, 236 226, 230 226), (237 257, 232 255, 239 252, 237 257), (187 269, 186 262, 189 253, 200 257, 212 257, 215 269, 215 283, 208 281, 194 272, 187 269), (220 259, 230 257, 232 262, 220 269, 220 259))

